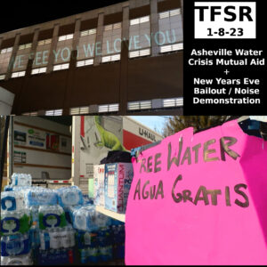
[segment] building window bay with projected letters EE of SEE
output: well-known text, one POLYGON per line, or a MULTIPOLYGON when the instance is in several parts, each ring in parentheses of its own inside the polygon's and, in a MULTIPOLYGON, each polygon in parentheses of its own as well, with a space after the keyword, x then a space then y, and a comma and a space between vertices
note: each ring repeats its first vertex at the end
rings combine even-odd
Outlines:
POLYGON ((36 47, 35 59, 33 61, 33 69, 39 69, 48 65, 48 59, 51 50, 52 39, 39 41, 36 47))

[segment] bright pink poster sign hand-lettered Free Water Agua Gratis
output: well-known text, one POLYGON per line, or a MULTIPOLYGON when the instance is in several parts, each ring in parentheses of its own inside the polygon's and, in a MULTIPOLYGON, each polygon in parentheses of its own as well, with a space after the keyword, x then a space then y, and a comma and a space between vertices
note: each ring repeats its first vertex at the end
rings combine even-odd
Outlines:
POLYGON ((267 142, 236 120, 188 128, 134 164, 126 264, 267 264, 267 142))

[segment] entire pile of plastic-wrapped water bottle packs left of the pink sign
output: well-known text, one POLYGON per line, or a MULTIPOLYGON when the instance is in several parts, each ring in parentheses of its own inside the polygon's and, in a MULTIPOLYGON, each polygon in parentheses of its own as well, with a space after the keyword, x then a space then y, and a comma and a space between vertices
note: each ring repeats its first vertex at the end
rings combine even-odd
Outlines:
POLYGON ((50 190, 31 186, 30 174, 13 174, 1 193, 1 265, 123 258, 124 226, 85 200, 77 186, 50 190))

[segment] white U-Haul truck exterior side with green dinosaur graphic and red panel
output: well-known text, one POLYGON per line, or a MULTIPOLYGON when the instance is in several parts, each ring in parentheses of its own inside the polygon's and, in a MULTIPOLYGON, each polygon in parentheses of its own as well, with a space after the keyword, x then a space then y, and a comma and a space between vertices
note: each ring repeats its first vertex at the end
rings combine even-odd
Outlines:
POLYGON ((163 137, 131 117, 73 117, 71 177, 81 190, 93 189, 93 165, 110 150, 131 151, 163 137))

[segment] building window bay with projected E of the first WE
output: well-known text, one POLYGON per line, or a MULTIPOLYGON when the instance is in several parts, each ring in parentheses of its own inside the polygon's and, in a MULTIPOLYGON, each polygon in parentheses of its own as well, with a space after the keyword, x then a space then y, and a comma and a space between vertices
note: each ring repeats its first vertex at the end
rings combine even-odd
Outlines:
POLYGON ((27 69, 30 51, 31 44, 20 44, 15 61, 13 62, 12 72, 21 72, 27 69))

